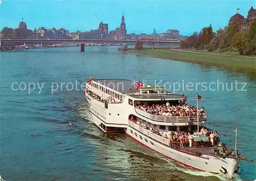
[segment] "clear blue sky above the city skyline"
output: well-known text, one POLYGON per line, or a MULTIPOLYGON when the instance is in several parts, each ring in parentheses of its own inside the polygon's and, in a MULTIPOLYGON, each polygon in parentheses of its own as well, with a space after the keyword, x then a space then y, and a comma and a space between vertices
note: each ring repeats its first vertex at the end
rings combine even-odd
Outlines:
POLYGON ((66 28, 69 32, 97 29, 108 23, 109 31, 120 26, 124 13, 127 33, 165 33, 177 29, 182 35, 199 32, 212 25, 214 31, 224 28, 237 13, 247 16, 256 0, 2 0, 0 29, 17 28, 24 18, 28 29, 66 28))

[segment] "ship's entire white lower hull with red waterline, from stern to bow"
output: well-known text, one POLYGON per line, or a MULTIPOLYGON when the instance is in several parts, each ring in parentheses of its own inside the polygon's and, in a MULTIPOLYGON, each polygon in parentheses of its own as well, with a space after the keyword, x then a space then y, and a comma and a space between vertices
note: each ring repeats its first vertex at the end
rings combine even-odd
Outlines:
MULTIPOLYGON (((100 115, 100 111, 96 111, 92 109, 97 104, 94 99, 91 99, 89 96, 84 94, 84 97, 90 104, 90 114, 93 118, 93 123, 99 127, 104 132, 111 132, 108 131, 108 127, 116 127, 116 128, 123 128, 123 131, 126 133, 127 136, 139 142, 140 144, 144 145, 147 148, 150 148, 158 153, 163 154, 168 159, 177 162, 181 165, 184 165, 188 168, 192 168, 198 171, 205 171, 210 173, 223 173, 228 178, 231 178, 234 174, 234 171, 237 169, 239 164, 238 159, 232 158, 222 158, 217 155, 209 155, 209 154, 196 154, 192 152, 186 152, 184 150, 178 149, 175 147, 170 147, 167 143, 163 144, 152 137, 151 131, 145 130, 139 125, 132 123, 127 119, 126 124, 116 124, 111 123, 113 121, 117 122, 116 120, 106 120, 100 115), (103 127, 103 126, 104 127, 103 127)), ((98 104, 99 106, 100 103, 98 104)), ((97 107, 97 106, 96 106, 97 107)), ((127 117, 126 117, 127 118, 127 117)), ((200 148, 198 149, 200 152, 200 148)))

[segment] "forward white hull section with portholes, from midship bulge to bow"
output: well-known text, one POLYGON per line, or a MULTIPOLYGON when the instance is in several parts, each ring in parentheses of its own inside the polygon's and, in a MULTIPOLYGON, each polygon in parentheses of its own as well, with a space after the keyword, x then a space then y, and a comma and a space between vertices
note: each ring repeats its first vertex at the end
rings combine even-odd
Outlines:
POLYGON ((170 148, 167 145, 165 146, 158 143, 157 141, 148 137, 146 134, 141 133, 137 129, 134 129, 130 126, 126 129, 126 135, 139 142, 143 146, 163 154, 168 159, 198 171, 206 171, 217 174, 224 173, 227 177, 231 178, 240 161, 231 158, 223 159, 217 156, 210 156, 205 154, 199 156, 194 153, 188 153, 178 149, 170 148))

